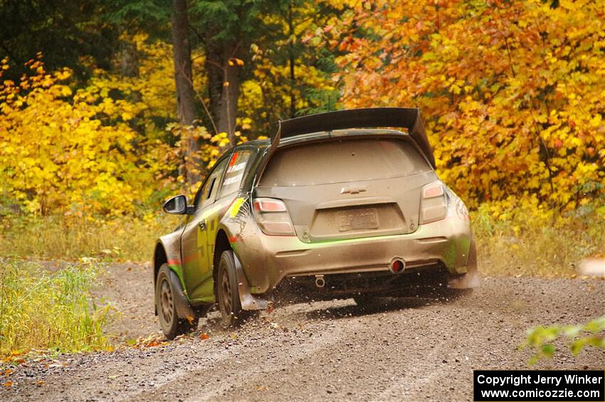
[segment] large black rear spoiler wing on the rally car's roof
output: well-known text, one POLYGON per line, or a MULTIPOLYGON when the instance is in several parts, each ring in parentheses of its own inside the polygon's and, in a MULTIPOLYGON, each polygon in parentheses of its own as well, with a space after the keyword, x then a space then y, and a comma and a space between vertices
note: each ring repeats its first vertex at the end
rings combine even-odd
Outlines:
POLYGON ((278 130, 271 137, 271 148, 279 145, 280 139, 312 132, 334 129, 397 127, 406 128, 411 139, 416 142, 433 169, 435 157, 428 143, 419 109, 407 107, 369 107, 365 109, 337 110, 280 120, 278 130))

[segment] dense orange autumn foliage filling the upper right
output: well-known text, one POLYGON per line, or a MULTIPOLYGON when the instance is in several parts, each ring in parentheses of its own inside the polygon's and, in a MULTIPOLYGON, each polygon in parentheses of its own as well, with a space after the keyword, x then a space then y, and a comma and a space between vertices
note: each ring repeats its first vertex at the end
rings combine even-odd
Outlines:
POLYGON ((471 206, 605 196, 594 151, 605 147, 605 54, 593 45, 604 9, 399 1, 352 12, 324 33, 347 51, 344 105, 420 107, 441 176, 471 206))

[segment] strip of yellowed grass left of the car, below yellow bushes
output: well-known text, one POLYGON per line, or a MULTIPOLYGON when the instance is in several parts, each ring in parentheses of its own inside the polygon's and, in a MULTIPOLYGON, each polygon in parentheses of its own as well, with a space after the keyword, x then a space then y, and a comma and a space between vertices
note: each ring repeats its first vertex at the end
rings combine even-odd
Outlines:
POLYGON ((167 214, 111 221, 11 216, 1 221, 0 256, 78 260, 90 255, 111 255, 121 260, 149 261, 155 240, 172 231, 178 223, 179 217, 167 214))

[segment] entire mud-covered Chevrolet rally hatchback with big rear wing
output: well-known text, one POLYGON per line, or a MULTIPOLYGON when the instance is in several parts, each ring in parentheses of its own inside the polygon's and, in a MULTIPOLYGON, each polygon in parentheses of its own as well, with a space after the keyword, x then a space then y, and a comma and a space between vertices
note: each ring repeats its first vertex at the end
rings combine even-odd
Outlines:
POLYGON ((164 334, 215 302, 229 327, 280 295, 363 303, 475 285, 467 209, 434 167, 419 110, 399 107, 285 120, 270 140, 233 147, 190 205, 164 204, 184 215, 154 253, 164 334))

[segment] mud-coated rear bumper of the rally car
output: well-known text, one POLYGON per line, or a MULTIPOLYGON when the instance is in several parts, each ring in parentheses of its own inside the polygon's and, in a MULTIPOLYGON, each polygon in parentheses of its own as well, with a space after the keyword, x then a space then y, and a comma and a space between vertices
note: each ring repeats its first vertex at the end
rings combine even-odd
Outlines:
POLYGON ((450 208, 448 217, 420 226, 414 233, 303 243, 296 236, 256 236, 237 253, 252 293, 273 290, 285 277, 388 271, 394 257, 407 268, 442 265, 451 274, 476 270, 470 258, 470 222, 450 208), (252 240, 253 239, 253 240, 252 240))

